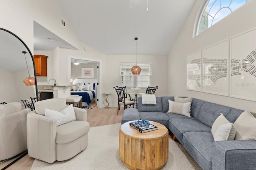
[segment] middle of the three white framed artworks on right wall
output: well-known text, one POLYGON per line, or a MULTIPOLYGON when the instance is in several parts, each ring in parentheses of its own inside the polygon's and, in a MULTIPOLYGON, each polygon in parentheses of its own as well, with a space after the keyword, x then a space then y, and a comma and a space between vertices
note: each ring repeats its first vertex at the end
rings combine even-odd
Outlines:
POLYGON ((202 92, 228 96, 228 39, 202 49, 202 92))

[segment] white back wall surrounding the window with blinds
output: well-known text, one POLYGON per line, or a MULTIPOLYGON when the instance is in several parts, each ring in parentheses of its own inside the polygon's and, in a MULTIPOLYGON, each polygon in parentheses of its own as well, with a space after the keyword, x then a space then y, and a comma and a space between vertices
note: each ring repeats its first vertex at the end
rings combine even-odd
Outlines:
MULTIPOLYGON (((117 107, 117 94, 113 87, 120 86, 120 63, 134 62, 135 55, 107 55, 106 91, 112 93, 108 97, 110 107, 117 107)), ((168 95, 168 57, 167 55, 137 55, 137 63, 152 63, 152 86, 158 86, 155 95, 168 95)), ((104 93, 105 91, 102 91, 104 93)), ((106 102, 105 102, 106 104, 106 102)))

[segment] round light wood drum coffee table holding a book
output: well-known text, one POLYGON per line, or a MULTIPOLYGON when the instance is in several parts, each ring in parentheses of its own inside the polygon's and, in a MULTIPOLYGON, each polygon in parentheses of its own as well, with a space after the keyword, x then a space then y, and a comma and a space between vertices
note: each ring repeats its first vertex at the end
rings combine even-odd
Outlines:
POLYGON ((150 121, 158 130, 140 133, 130 127, 130 122, 119 130, 119 155, 124 165, 132 170, 163 168, 168 160, 168 129, 150 121))

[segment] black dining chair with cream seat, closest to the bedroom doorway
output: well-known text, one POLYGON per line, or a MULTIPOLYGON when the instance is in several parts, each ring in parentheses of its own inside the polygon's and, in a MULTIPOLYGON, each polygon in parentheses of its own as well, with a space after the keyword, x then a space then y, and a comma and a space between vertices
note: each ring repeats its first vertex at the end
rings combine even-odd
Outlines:
POLYGON ((128 106, 132 106, 134 108, 134 101, 127 100, 125 97, 124 89, 113 87, 116 90, 118 96, 118 107, 117 107, 117 115, 120 110, 121 105, 124 105, 124 110, 128 108, 128 106))

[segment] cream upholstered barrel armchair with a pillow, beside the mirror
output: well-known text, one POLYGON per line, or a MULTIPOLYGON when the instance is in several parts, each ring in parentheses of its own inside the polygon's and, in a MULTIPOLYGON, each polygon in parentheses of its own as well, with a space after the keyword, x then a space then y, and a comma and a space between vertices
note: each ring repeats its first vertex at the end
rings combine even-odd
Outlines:
POLYGON ((62 111, 66 99, 47 99, 35 103, 27 116, 28 155, 52 163, 74 157, 88 145, 90 125, 87 111, 74 107, 76 121, 56 126, 56 120, 44 116, 45 109, 62 111))

